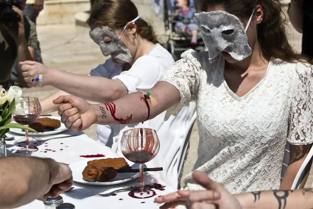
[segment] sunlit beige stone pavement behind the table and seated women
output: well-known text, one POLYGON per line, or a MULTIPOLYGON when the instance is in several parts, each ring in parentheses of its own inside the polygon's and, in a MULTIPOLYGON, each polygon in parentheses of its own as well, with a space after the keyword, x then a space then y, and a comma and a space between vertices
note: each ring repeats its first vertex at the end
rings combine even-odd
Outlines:
MULTIPOLYGON (((140 12, 142 12, 140 10, 140 12)), ((145 10, 144 13, 147 13, 145 10)), ((149 12, 148 12, 149 13, 149 12)), ((151 12, 152 13, 152 12, 151 12)), ((162 35, 164 29, 162 22, 153 15, 153 25, 159 35, 162 35), (161 31, 161 32, 160 32, 161 31)), ((99 63, 105 61, 98 46, 89 38, 89 29, 75 25, 46 25, 38 26, 38 37, 41 43, 42 56, 48 67, 64 70, 67 72, 87 75, 91 69, 99 63)), ((290 28, 290 40, 297 51, 300 50, 301 34, 290 28)), ((24 89, 25 96, 36 96, 40 99, 48 96, 56 89, 50 86, 43 88, 24 89)), ((57 114, 54 112, 53 114, 57 114)), ((96 139, 95 125, 85 131, 91 138, 96 139)), ((189 173, 197 157, 198 130, 197 124, 193 127, 191 136, 191 147, 187 161, 185 163, 184 176, 189 173)), ((311 185, 312 175, 307 183, 311 185)))

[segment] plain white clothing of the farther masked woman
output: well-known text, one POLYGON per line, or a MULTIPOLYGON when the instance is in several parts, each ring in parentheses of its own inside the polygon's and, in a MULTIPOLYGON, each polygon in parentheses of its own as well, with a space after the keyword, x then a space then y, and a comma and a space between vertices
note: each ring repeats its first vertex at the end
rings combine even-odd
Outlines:
MULTIPOLYGON (((90 72, 91 76, 100 76, 111 79, 119 79, 128 90, 128 93, 144 91, 154 86, 161 74, 174 63, 171 54, 161 45, 156 44, 150 52, 138 58, 128 71, 122 72, 123 64, 108 59, 90 72)), ((132 128, 152 128, 158 133, 160 139, 160 151, 150 162, 148 167, 163 167, 162 172, 154 172, 153 175, 165 181, 173 188, 178 185, 179 150, 183 145, 183 136, 191 123, 195 109, 184 107, 179 114, 171 116, 164 121, 165 112, 144 124, 97 126, 98 141, 112 148, 120 156, 120 140, 123 131, 132 128)))

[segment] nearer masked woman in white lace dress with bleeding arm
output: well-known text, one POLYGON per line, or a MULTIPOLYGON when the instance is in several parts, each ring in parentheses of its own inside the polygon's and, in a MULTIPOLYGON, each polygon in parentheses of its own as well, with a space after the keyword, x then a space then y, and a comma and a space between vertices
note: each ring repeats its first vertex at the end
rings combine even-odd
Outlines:
MULTIPOLYGON (((242 35, 243 31, 244 36, 238 39, 241 42, 236 39, 221 48, 224 40, 213 40, 206 43, 208 52, 183 53, 149 90, 157 105, 149 103, 147 107, 143 95, 133 93, 113 102, 116 115, 138 123, 169 108, 168 112, 175 114, 195 101, 200 140, 194 170, 207 173, 232 193, 289 189, 313 142, 313 67, 292 51, 279 15, 279 0, 197 3, 200 11, 206 11, 196 15, 202 17, 198 24, 205 42, 219 28, 226 28, 220 33, 229 40, 232 34, 242 35), (233 25, 227 21, 215 18, 206 22, 212 14, 233 21, 234 26, 237 20, 242 24, 229 29, 233 25), (248 28, 246 35, 244 26, 248 28), (246 37, 249 47, 244 43, 246 37), (241 50, 236 51, 236 47, 241 50), (287 141, 291 157, 281 183, 287 141)), ((104 105, 90 105, 73 97, 58 98, 55 103, 67 103, 60 105, 59 114, 72 131, 93 123, 118 123, 110 114, 102 117, 100 108, 104 105)), ((201 188, 191 174, 184 182, 186 189, 201 188)))

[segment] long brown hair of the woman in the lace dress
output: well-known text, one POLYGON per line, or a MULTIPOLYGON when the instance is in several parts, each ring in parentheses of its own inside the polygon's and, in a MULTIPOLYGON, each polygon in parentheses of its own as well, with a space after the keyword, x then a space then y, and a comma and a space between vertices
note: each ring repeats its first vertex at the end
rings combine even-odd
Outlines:
POLYGON ((263 21, 258 25, 258 41, 265 59, 279 58, 286 62, 307 61, 308 57, 293 51, 286 33, 286 15, 282 12, 280 0, 196 0, 198 11, 221 5, 225 11, 237 17, 248 19, 253 8, 260 4, 264 11, 263 21))

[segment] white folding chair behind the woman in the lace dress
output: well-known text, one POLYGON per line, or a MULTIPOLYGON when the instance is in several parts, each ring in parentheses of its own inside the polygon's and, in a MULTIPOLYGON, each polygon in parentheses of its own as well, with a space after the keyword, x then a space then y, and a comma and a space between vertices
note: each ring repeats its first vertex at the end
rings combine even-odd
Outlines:
MULTIPOLYGON (((287 166, 289 164, 289 143, 287 142, 286 144, 286 149, 285 149, 285 155, 284 155, 284 161, 283 161, 283 168, 282 168, 282 175, 281 175, 281 180, 283 180, 283 177, 286 173, 286 169, 287 169, 287 166)), ((300 183, 303 179, 303 174, 304 174, 304 171, 306 170, 307 166, 310 166, 310 161, 313 157, 313 146, 311 147, 307 157, 304 159, 297 175, 295 176, 294 180, 293 180, 293 183, 292 183, 292 186, 291 186, 291 189, 298 189, 299 186, 300 186, 300 183)))

